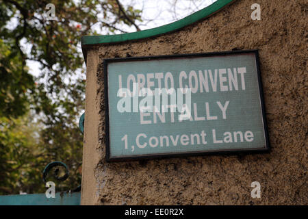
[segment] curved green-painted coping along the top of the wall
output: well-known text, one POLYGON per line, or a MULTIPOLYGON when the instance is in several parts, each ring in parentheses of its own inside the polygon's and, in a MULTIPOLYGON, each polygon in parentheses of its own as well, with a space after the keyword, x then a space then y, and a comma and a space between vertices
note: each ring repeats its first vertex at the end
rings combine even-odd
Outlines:
POLYGON ((160 27, 155 27, 152 29, 145 29, 143 31, 137 31, 128 34, 116 34, 116 35, 102 35, 102 36, 83 36, 81 37, 81 46, 93 45, 93 44, 101 44, 101 43, 112 43, 112 42, 125 42, 127 40, 139 40, 142 38, 149 38, 151 36, 159 36, 161 34, 166 34, 171 31, 175 31, 177 29, 181 29, 187 25, 191 25, 196 21, 199 21, 218 10, 222 9, 224 6, 228 5, 232 1, 235 0, 218 0, 211 5, 199 10, 198 12, 194 12, 194 14, 190 14, 185 18, 182 18, 179 21, 175 21, 168 25, 163 25, 160 27))

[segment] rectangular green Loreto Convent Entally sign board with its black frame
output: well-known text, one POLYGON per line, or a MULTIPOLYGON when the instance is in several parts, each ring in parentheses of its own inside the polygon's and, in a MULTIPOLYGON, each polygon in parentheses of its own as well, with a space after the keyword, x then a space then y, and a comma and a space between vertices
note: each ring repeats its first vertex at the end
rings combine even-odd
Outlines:
POLYGON ((257 51, 103 62, 107 161, 269 150, 257 51))

